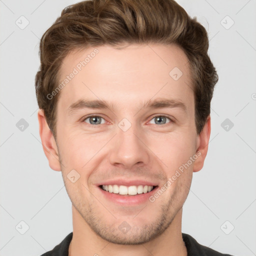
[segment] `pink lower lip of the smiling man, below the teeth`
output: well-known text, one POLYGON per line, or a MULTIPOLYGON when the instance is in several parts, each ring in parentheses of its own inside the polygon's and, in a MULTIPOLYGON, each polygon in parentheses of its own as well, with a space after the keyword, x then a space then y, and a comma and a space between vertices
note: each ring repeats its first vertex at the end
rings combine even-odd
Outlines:
POLYGON ((157 186, 150 192, 136 194, 136 195, 120 195, 115 193, 109 193, 102 188, 98 189, 103 193, 103 195, 110 201, 121 204, 121 205, 138 205, 148 201, 148 197, 155 193, 157 186))

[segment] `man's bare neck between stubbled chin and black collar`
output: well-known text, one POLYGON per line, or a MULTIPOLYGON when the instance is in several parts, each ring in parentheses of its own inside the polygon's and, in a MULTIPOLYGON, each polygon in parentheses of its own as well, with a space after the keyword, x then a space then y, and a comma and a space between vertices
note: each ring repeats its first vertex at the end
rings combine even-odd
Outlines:
POLYGON ((108 242, 98 236, 72 206, 73 236, 68 256, 187 256, 181 233, 182 208, 177 212, 171 224, 158 237, 143 244, 122 245, 108 242))

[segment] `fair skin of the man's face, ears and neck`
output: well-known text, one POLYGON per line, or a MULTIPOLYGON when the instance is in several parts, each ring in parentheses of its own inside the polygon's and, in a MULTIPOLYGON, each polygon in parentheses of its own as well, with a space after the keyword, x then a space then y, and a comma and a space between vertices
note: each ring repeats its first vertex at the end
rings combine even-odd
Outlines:
MULTIPOLYGON (((94 48, 70 52, 61 66, 61 80, 94 48)), ((182 205, 192 173, 203 166, 210 136, 210 116, 196 133, 188 59, 175 45, 96 48, 95 57, 59 92, 56 140, 43 111, 38 111, 43 150, 49 166, 62 172, 72 202, 68 255, 185 256, 182 205), (177 80, 169 75, 173 67, 183 73, 177 80), (183 107, 163 104, 166 101, 145 105, 166 99, 183 107), (78 100, 102 100, 107 107, 84 104, 71 111, 78 100), (150 201, 149 196, 196 152, 200 155, 192 164, 150 201), (67 178, 72 169, 80 175, 75 182, 67 178), (140 183, 153 185, 153 190, 120 195, 100 186, 140 183)))

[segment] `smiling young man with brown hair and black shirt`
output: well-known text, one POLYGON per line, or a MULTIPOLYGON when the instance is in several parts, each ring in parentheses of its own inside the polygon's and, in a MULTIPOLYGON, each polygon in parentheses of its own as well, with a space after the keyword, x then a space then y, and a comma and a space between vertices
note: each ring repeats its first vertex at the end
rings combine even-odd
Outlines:
POLYGON ((43 255, 228 255, 181 233, 218 80, 206 30, 173 0, 66 7, 40 41, 39 133, 73 232, 43 255))

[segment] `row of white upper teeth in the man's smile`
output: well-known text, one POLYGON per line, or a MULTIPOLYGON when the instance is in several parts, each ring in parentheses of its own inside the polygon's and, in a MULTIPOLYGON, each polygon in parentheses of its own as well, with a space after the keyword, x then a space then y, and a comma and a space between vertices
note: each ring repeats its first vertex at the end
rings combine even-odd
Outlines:
POLYGON ((102 189, 108 191, 109 193, 121 194, 121 195, 136 195, 150 192, 153 189, 153 186, 150 185, 132 185, 132 186, 124 186, 124 185, 102 185, 102 189))

